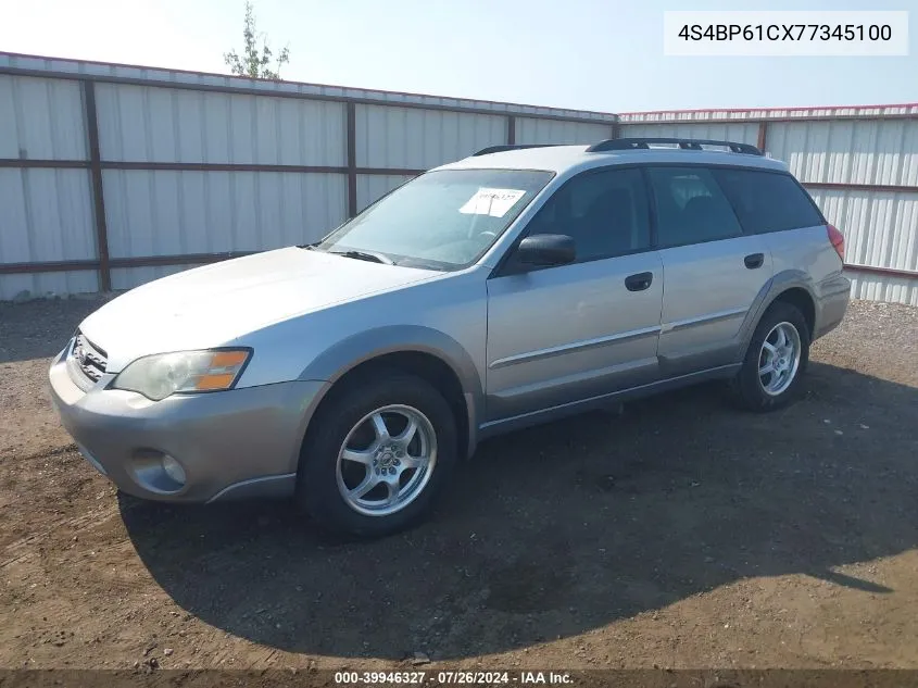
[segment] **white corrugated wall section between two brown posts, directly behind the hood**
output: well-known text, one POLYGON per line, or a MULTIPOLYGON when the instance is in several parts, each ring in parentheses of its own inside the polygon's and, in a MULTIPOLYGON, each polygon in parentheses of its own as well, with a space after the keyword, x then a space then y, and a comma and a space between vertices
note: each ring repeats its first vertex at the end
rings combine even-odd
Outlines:
MULTIPOLYGON (((342 103, 123 84, 100 84, 96 99, 104 161, 347 164, 342 103)), ((102 180, 114 260, 304 243, 348 211, 338 173, 104 170, 102 180)), ((162 272, 117 268, 112 286, 162 272)))

